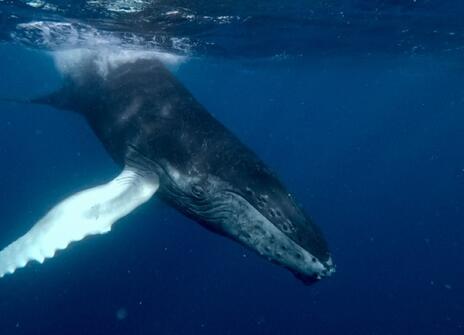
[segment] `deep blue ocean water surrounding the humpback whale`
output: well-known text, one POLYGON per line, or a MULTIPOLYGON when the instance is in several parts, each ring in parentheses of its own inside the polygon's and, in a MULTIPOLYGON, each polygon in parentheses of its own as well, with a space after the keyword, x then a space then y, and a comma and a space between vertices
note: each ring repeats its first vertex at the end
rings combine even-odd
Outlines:
MULTIPOLYGON (((0 2, 0 97, 59 87, 50 50, 99 45, 90 27, 140 47, 164 24, 150 47, 186 57, 176 77, 279 174, 337 266, 304 286, 155 197, 2 278, 0 334, 464 334, 462 4, 289 3, 159 2, 178 11, 167 24, 147 8, 0 2), (72 29, 21 28, 47 20, 72 29)), ((79 115, 0 111, 4 247, 118 167, 79 115)))

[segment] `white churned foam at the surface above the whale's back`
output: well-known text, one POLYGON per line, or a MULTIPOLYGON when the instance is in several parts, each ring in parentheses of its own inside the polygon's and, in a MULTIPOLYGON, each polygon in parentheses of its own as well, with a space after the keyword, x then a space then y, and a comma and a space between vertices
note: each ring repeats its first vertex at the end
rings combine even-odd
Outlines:
POLYGON ((138 59, 159 59, 175 68, 186 59, 189 41, 173 38, 172 44, 182 55, 162 51, 156 43, 146 43, 135 35, 124 40, 94 27, 76 22, 32 21, 18 25, 14 38, 21 42, 34 41, 35 45, 50 50, 57 69, 78 76, 82 64, 92 62, 101 76, 124 64, 138 59))

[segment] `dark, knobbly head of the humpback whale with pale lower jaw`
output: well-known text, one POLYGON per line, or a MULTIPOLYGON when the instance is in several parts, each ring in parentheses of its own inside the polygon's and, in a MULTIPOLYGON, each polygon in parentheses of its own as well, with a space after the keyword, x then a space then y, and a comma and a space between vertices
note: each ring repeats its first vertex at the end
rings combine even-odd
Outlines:
POLYGON ((307 285, 334 272, 321 231, 262 162, 248 157, 213 171, 197 177, 169 173, 163 191, 188 216, 287 268, 307 285))

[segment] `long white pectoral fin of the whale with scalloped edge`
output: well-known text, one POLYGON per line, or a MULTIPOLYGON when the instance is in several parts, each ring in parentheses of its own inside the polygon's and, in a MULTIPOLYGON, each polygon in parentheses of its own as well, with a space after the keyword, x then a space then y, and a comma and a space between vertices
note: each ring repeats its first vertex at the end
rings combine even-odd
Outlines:
POLYGON ((25 235, 0 251, 0 278, 30 261, 42 263, 71 242, 110 231, 113 223, 148 201, 158 186, 155 174, 138 174, 126 167, 109 183, 63 200, 25 235))

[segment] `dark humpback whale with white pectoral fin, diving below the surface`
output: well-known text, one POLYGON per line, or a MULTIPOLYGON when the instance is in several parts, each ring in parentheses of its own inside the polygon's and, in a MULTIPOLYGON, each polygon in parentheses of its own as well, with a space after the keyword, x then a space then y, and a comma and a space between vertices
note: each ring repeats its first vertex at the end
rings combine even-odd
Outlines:
POLYGON ((334 271, 320 229, 278 177, 158 59, 105 73, 88 59, 30 102, 82 115, 121 174, 53 207, 0 252, 0 277, 104 234, 155 193, 210 231, 256 251, 305 284, 334 271))

